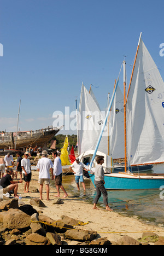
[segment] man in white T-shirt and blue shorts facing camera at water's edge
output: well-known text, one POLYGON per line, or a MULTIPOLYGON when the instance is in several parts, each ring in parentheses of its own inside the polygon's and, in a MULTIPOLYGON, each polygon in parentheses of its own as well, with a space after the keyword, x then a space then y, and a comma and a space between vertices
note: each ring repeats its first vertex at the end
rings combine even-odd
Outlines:
POLYGON ((79 179, 80 182, 83 185, 83 189, 84 189, 84 193, 85 193, 85 183, 84 183, 84 177, 83 177, 83 170, 85 171, 89 171, 85 168, 85 165, 83 164, 83 162, 79 161, 79 158, 76 158, 75 161, 73 162, 73 164, 69 167, 69 169, 74 173, 75 175, 75 182, 77 183, 77 188, 80 191, 80 186, 79 186, 79 179), (72 169, 72 167, 74 168, 74 170, 72 169))

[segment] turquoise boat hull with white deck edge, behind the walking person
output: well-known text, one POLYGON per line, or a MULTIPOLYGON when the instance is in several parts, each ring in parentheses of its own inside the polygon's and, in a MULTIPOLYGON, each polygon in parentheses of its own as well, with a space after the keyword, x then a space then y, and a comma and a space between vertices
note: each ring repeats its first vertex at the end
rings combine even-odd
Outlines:
MULTIPOLYGON (((94 184, 95 175, 90 173, 94 184)), ((125 173, 113 173, 104 175, 104 187, 109 190, 144 190, 159 189, 164 185, 164 176, 137 176, 125 173)), ((94 184, 95 185, 95 184, 94 184)))

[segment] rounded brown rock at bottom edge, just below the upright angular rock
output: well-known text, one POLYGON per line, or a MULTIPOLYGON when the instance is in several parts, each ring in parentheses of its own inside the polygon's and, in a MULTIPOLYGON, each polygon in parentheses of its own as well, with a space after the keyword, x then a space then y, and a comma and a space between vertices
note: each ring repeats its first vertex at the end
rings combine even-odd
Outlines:
POLYGON ((39 234, 32 233, 25 239, 26 245, 47 245, 48 240, 39 234))

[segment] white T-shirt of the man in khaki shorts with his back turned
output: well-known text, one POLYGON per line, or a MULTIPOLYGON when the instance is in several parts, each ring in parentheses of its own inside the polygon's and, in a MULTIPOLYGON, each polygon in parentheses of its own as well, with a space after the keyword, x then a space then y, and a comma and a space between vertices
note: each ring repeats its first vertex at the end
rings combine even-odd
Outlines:
POLYGON ((37 168, 39 169, 39 179, 50 179, 50 168, 53 163, 49 158, 41 158, 38 161, 37 168))

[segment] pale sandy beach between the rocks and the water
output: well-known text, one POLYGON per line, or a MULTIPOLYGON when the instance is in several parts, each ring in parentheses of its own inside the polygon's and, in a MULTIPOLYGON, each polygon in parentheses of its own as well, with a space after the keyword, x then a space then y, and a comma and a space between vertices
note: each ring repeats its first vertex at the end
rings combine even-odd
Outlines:
MULTIPOLYGON (((30 188, 36 187, 39 190, 38 175, 38 171, 32 171, 30 188)), ((24 182, 19 184, 18 194, 22 195, 22 201, 25 204, 30 204, 32 197, 40 198, 39 193, 24 193, 24 182)), ((61 219, 62 215, 79 219, 80 221, 88 224, 78 226, 77 228, 97 231, 98 237, 107 237, 109 241, 116 242, 122 237, 122 235, 128 235, 137 239, 142 236, 143 232, 155 232, 159 236, 164 235, 163 227, 142 223, 137 219, 137 217, 125 217, 114 211, 108 212, 105 208, 101 208, 101 210, 93 210, 92 204, 87 203, 85 200, 79 201, 75 197, 72 197, 71 194, 63 199, 62 191, 60 199, 64 203, 61 205, 54 205, 53 201, 56 199, 55 195, 56 188, 50 187, 50 201, 47 201, 44 185, 42 201, 46 207, 40 209, 37 206, 33 206, 33 208, 36 208, 37 211, 42 211, 42 214, 54 220, 61 219)), ((68 243, 68 245, 75 244, 75 241, 70 241, 68 243)))

